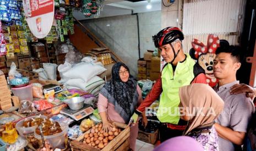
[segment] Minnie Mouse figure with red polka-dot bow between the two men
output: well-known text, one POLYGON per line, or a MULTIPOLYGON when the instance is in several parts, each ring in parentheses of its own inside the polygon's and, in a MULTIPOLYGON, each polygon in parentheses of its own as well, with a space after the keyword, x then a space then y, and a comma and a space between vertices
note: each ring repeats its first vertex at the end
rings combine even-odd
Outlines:
POLYGON ((208 85, 214 87, 218 83, 213 74, 213 64, 216 56, 215 51, 220 47, 219 37, 216 34, 209 34, 207 45, 204 45, 198 39, 193 39, 192 47, 189 55, 197 60, 197 63, 204 69, 208 85))

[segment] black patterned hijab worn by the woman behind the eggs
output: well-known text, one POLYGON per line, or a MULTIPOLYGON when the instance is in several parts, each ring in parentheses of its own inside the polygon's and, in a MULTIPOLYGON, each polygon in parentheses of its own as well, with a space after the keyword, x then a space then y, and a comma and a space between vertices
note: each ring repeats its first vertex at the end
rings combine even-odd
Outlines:
POLYGON ((137 106, 139 94, 137 81, 130 75, 129 68, 124 63, 117 62, 112 67, 112 78, 105 84, 100 93, 115 106, 115 111, 128 123, 137 106), (129 73, 128 81, 125 83, 122 82, 119 75, 121 66, 126 68, 129 73))

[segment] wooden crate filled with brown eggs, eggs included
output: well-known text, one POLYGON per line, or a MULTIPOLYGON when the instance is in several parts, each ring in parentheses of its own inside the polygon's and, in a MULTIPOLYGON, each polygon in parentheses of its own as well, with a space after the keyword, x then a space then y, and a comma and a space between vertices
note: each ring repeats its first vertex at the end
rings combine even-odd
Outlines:
POLYGON ((72 150, 128 150, 130 127, 122 123, 112 123, 111 130, 104 132, 102 123, 70 142, 72 150))

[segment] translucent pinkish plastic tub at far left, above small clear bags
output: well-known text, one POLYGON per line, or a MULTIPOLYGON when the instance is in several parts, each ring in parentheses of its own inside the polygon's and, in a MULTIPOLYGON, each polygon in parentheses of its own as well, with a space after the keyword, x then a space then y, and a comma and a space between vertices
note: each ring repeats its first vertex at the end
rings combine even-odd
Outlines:
POLYGON ((13 94, 19 97, 19 100, 33 101, 32 84, 21 88, 12 88, 13 94))

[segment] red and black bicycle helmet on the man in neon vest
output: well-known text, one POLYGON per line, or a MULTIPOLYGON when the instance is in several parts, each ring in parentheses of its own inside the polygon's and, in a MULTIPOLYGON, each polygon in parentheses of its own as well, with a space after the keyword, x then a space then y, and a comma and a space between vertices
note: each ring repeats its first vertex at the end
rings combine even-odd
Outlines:
POLYGON ((154 40, 155 47, 158 48, 165 44, 170 44, 176 39, 183 40, 184 35, 178 27, 166 27, 157 33, 155 36, 152 36, 154 40))

